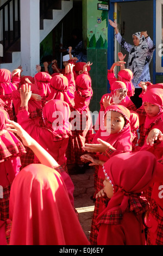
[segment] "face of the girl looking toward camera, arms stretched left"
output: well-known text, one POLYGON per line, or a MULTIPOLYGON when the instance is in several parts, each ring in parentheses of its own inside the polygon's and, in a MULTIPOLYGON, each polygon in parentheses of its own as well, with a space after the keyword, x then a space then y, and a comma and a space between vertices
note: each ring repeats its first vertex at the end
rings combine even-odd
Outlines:
POLYGON ((123 115, 116 111, 108 111, 105 115, 104 125, 109 134, 120 132, 124 127, 123 115))

